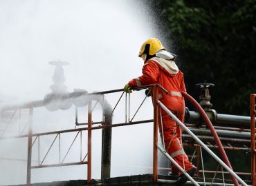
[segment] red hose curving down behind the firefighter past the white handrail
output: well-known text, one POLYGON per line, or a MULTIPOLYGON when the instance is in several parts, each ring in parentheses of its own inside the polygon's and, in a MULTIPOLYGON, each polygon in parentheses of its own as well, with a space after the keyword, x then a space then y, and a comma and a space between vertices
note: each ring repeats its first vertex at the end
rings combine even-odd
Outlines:
MULTIPOLYGON (((208 128, 210 129, 210 132, 212 133, 212 136, 214 137, 214 140, 217 143, 217 146, 219 147, 219 152, 223 158, 224 163, 226 163, 226 165, 228 165, 228 167, 230 167, 230 169, 232 169, 230 162, 228 160, 228 156, 221 144, 221 141, 219 140, 219 136, 217 134, 217 132, 214 130, 214 127, 212 125, 212 123, 210 122, 210 119, 208 118, 208 116, 205 114, 205 111, 203 110, 203 108, 201 107, 201 105, 199 105, 199 103, 197 103, 192 96, 190 96, 189 94, 187 94, 186 92, 181 92, 181 94, 184 96, 185 99, 188 99, 188 101, 190 101, 190 103, 192 103, 192 105, 194 105, 194 107, 196 107, 196 110, 198 110, 199 114, 202 116, 203 120, 205 121, 206 125, 208 126, 208 128)), ((234 178, 232 176, 232 181, 234 183, 235 186, 238 186, 238 182, 237 179, 234 178)))

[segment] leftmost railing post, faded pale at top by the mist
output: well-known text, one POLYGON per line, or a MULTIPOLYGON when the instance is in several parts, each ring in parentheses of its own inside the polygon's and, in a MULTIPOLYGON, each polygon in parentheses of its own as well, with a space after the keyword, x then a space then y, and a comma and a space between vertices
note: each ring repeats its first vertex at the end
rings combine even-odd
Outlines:
POLYGON ((30 186, 30 183, 31 183, 32 133, 33 133, 33 105, 30 105, 29 119, 28 119, 27 186, 30 186))

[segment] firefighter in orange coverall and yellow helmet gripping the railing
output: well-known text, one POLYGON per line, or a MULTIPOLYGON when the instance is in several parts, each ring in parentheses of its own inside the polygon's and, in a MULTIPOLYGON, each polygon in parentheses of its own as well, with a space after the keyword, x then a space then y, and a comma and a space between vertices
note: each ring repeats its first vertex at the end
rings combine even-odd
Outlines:
MULTIPOLYGON (((125 92, 131 93, 134 87, 158 83, 168 91, 168 94, 165 94, 159 89, 158 100, 174 113, 181 122, 184 122, 185 101, 181 91, 185 92, 186 89, 183 73, 174 62, 176 55, 167 52, 158 39, 151 38, 143 43, 138 56, 144 61, 143 75, 129 81, 124 87, 125 92)), ((193 176, 196 167, 190 163, 181 145, 183 129, 162 109, 161 114, 158 115, 158 120, 163 123, 163 131, 161 131, 162 127, 159 126, 159 132, 163 132, 162 141, 165 143, 165 149, 176 163, 185 168, 190 176, 193 176)), ((179 174, 176 185, 183 185, 188 180, 174 165, 172 165, 172 174, 179 174)))

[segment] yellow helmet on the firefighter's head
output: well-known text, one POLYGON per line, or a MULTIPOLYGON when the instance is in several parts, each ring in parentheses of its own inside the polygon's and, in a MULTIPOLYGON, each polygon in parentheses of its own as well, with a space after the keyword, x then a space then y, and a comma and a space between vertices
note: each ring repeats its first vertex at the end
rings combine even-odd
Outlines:
POLYGON ((140 52, 138 53, 138 56, 141 57, 143 54, 149 54, 150 56, 153 56, 158 52, 159 50, 165 50, 162 43, 156 39, 156 38, 150 38, 147 39, 143 43, 143 45, 140 47, 140 52))

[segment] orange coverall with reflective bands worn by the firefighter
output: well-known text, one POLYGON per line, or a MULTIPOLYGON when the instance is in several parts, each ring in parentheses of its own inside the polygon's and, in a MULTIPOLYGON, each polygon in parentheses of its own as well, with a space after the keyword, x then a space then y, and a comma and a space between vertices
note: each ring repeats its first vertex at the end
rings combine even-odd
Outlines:
MULTIPOLYGON (((168 94, 165 94, 162 90, 159 90, 159 101, 161 101, 173 114, 176 115, 177 118, 179 118, 182 123, 184 123, 185 101, 183 96, 181 96, 181 91, 185 92, 186 90, 183 73, 179 70, 178 73, 171 74, 161 65, 156 63, 154 59, 149 59, 144 63, 143 75, 136 79, 132 79, 128 84, 129 87, 133 88, 154 83, 158 83, 169 92, 168 94)), ((181 146, 182 127, 179 127, 179 125, 177 125, 177 123, 164 110, 161 110, 161 115, 163 121, 165 149, 168 154, 174 158, 176 163, 183 168, 185 167, 186 171, 192 169, 194 165, 190 163, 188 156, 185 154, 181 146)), ((160 121, 160 114, 158 119, 160 121)), ((161 122, 158 123, 159 131, 162 133, 161 122)), ((181 172, 179 169, 172 166, 172 173, 178 174, 181 172)))

